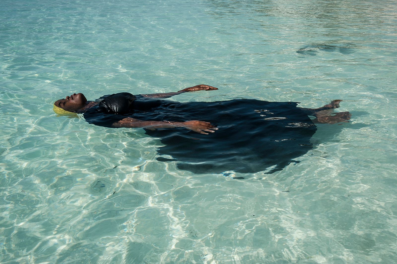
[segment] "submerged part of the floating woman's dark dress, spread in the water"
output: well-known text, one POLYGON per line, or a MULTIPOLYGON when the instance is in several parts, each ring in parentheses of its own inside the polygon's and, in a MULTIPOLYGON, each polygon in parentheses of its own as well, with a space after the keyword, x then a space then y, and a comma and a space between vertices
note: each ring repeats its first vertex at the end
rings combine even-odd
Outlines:
POLYGON ((178 168, 195 173, 227 171, 266 173, 282 170, 312 149, 316 126, 294 102, 234 99, 188 102, 137 96, 129 113, 104 113, 98 107, 84 114, 87 122, 111 127, 125 117, 154 121, 211 122, 219 130, 208 135, 185 128, 146 130, 160 138, 159 161, 178 161, 178 168))

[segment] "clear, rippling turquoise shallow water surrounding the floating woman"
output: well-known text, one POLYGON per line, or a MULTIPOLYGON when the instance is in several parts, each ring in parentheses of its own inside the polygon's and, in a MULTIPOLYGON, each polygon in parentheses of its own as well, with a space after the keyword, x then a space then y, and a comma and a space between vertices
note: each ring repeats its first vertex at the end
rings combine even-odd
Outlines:
POLYGON ((396 8, 3 1, 0 262, 394 262, 396 8), (73 92, 200 83, 219 90, 173 99, 343 99, 353 118, 319 126, 301 163, 233 180, 156 161, 160 141, 141 129, 52 112, 73 92))

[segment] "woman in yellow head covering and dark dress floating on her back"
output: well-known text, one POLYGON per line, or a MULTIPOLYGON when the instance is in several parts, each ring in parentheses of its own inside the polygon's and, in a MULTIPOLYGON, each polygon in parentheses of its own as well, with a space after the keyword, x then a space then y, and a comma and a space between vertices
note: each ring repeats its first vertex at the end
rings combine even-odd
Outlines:
POLYGON ((144 128, 146 134, 160 138, 165 145, 158 149, 159 161, 178 161, 178 168, 195 173, 282 170, 312 149, 314 123, 336 124, 351 118, 349 112, 331 115, 342 100, 316 109, 296 107, 295 102, 256 99, 161 100, 200 90, 218 88, 200 84, 170 93, 134 96, 123 92, 95 101, 87 101, 79 93, 56 101, 54 111, 61 115, 82 113, 87 122, 98 126, 144 128))

